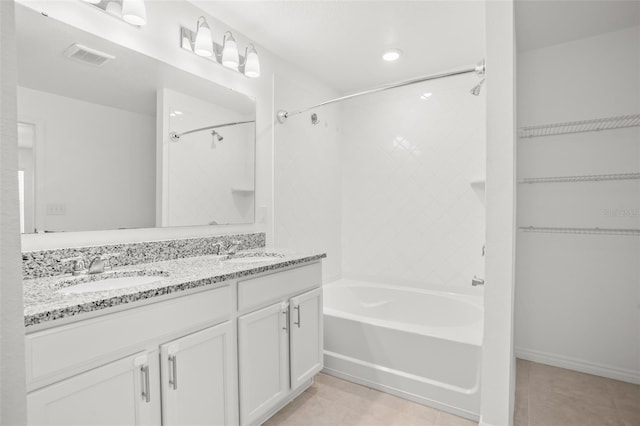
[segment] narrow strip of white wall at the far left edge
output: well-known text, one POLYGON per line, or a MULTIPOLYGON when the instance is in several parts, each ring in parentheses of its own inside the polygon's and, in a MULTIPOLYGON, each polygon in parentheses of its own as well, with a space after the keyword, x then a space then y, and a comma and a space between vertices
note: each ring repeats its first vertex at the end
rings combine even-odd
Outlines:
POLYGON ((26 423, 13 1, 0 1, 0 424, 26 423))

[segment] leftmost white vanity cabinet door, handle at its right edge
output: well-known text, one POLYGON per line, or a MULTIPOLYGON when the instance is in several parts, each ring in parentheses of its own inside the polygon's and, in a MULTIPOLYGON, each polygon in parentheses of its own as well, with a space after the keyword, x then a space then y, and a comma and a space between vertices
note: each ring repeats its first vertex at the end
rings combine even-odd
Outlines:
POLYGON ((139 353, 29 393, 28 424, 157 425, 157 357, 139 353))

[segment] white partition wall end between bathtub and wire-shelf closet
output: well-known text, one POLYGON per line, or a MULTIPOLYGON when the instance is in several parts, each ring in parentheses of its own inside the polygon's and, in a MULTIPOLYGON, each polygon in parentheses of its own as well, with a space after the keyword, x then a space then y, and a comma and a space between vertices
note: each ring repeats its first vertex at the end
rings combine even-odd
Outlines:
POLYGON ((515 358, 515 28, 514 2, 486 3, 487 254, 480 425, 513 424, 515 358))

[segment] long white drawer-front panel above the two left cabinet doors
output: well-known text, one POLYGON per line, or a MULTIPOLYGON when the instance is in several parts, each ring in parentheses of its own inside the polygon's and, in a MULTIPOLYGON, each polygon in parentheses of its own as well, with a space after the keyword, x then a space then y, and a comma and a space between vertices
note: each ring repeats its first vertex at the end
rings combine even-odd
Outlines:
POLYGON ((227 286, 29 334, 28 388, 93 368, 105 357, 143 349, 156 339, 222 322, 232 306, 227 286))

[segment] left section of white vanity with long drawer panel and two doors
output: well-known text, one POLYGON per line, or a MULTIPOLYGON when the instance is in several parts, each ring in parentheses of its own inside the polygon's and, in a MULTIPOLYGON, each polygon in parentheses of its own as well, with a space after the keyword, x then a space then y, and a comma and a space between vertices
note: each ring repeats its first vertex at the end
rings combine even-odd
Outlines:
POLYGON ((227 286, 28 334, 28 424, 237 424, 232 302, 227 286))

